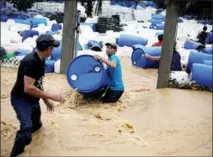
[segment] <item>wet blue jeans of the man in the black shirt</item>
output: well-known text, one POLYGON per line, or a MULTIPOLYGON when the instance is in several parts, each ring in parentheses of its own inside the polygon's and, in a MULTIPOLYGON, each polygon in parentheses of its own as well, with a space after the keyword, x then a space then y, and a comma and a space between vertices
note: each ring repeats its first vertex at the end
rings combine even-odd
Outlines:
POLYGON ((32 104, 25 99, 11 97, 11 104, 20 123, 20 130, 16 133, 15 143, 11 152, 12 157, 24 151, 25 146, 32 141, 32 133, 39 130, 42 123, 39 102, 32 104))

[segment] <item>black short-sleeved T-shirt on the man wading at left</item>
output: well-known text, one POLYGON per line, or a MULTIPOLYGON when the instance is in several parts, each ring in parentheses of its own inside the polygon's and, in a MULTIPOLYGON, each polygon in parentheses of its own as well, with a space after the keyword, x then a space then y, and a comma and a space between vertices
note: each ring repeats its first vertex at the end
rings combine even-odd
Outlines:
POLYGON ((41 60, 36 52, 27 54, 21 61, 16 83, 12 89, 11 97, 21 98, 30 103, 37 103, 39 98, 24 92, 24 76, 35 79, 35 86, 43 90, 43 76, 45 61, 41 60))

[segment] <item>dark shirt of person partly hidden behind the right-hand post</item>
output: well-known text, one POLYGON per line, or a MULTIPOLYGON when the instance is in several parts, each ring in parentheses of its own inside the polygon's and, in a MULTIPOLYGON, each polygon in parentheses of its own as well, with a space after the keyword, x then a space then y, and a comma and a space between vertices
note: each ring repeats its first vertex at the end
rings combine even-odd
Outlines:
POLYGON ((171 71, 182 71, 181 57, 177 51, 174 51, 173 53, 171 71))

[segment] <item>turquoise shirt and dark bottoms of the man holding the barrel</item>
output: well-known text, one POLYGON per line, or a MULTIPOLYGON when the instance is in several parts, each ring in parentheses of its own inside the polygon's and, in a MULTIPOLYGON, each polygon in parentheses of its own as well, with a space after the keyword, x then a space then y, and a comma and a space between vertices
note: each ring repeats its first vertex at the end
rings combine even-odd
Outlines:
POLYGON ((124 84, 122 80, 122 68, 119 58, 116 55, 109 57, 110 61, 116 63, 116 68, 107 66, 107 74, 109 77, 109 85, 103 102, 114 103, 120 99, 124 92, 124 84))

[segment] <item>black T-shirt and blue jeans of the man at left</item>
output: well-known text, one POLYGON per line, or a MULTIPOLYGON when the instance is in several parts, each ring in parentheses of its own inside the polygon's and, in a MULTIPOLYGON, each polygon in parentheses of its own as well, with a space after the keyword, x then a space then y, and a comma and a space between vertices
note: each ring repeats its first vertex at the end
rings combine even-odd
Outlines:
POLYGON ((22 153, 25 146, 31 143, 32 133, 42 126, 39 98, 24 92, 24 76, 35 79, 35 86, 43 90, 44 70, 45 61, 36 52, 27 54, 20 63, 17 80, 11 91, 11 104, 20 122, 20 130, 16 134, 11 157, 22 153))

